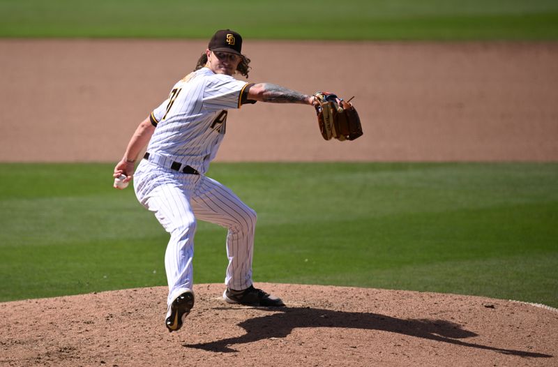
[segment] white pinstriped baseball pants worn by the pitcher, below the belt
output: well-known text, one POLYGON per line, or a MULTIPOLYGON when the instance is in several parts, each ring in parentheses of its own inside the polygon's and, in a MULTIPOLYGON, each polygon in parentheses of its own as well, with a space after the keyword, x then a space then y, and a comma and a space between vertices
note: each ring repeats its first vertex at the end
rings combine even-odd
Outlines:
POLYGON ((165 270, 169 284, 167 304, 193 289, 196 221, 227 228, 229 264, 225 284, 234 290, 252 285, 252 253, 256 213, 232 190, 203 174, 183 174, 142 161, 134 175, 140 203, 152 211, 169 232, 165 270))

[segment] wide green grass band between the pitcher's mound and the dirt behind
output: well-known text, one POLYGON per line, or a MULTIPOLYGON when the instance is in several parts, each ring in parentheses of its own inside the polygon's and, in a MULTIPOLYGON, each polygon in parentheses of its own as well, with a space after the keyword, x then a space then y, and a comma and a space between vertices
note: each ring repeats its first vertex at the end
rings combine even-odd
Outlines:
MULTIPOLYGON (((0 301, 165 285, 168 235, 112 165, 0 164, 0 301)), ((558 164, 213 163, 256 209, 255 280, 558 306, 558 164)), ((199 223, 195 282, 224 278, 199 223)))

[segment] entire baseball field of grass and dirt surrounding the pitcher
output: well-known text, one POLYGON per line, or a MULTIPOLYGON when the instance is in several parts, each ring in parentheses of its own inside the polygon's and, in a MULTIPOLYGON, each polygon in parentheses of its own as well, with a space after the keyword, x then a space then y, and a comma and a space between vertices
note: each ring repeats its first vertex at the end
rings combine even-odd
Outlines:
POLYGON ((556 366, 553 1, 0 0, 0 366, 556 366), (256 285, 225 306, 199 223, 197 303, 163 325, 168 234, 112 168, 207 38, 250 82, 354 97, 229 113, 208 175, 258 214, 256 285))

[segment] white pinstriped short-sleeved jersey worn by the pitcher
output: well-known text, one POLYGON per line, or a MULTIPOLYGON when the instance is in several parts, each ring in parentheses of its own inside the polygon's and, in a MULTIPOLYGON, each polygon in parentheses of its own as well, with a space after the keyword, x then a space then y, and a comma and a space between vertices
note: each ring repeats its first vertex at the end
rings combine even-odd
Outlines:
POLYGON ((225 135, 227 110, 240 108, 248 85, 209 68, 186 75, 151 112, 156 129, 147 151, 207 172, 225 135))

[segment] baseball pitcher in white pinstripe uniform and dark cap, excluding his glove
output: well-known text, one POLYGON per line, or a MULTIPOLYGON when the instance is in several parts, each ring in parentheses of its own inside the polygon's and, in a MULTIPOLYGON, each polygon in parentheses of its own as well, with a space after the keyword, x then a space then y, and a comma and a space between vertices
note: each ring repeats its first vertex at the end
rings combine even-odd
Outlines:
POLYGON ((227 110, 256 101, 314 105, 316 100, 276 84, 236 80, 236 72, 248 77, 250 68, 250 59, 241 48, 239 33, 217 31, 195 70, 176 82, 169 97, 137 126, 126 153, 114 167, 115 178, 126 177, 121 182, 124 186, 134 177, 137 199, 170 234, 165 252, 169 284, 165 324, 169 331, 182 327, 183 317, 194 304, 196 220, 228 230, 229 263, 223 293, 227 303, 285 306, 280 298, 252 285, 255 211, 205 173, 225 136, 227 110), (135 169, 146 144, 146 153, 135 169))

